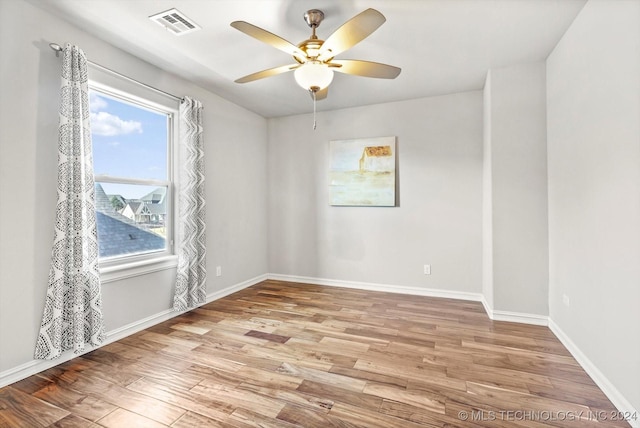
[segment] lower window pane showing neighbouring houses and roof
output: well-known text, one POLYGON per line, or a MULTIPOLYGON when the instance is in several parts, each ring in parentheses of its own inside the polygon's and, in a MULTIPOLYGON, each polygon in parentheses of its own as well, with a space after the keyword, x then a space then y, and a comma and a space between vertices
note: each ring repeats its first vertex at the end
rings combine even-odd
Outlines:
POLYGON ((167 187, 96 183, 100 257, 163 251, 167 187))

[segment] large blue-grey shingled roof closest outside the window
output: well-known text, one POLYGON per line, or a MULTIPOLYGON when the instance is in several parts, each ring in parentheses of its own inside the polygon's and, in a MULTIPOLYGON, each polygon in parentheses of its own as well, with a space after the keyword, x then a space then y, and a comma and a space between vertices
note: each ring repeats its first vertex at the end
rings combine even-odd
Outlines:
POLYGON ((118 213, 99 183, 96 183, 96 221, 100 257, 165 248, 163 237, 139 227, 134 221, 118 213))

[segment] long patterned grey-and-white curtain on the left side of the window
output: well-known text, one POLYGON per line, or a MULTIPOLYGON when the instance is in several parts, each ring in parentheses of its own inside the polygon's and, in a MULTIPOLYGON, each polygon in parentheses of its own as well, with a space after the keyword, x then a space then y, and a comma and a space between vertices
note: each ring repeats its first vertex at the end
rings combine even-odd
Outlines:
POLYGON ((63 51, 60 98, 56 225, 37 359, 104 341, 87 59, 70 44, 63 51))

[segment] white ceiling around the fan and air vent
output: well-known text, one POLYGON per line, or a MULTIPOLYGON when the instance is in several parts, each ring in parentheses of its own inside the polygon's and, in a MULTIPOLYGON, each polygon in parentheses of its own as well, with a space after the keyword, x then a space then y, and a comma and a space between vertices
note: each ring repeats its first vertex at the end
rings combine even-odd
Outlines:
MULTIPOLYGON (((181 75, 264 117, 312 111, 293 73, 237 84, 246 74, 291 64, 286 53, 229 26, 242 20, 298 44, 303 15, 321 9, 318 36, 372 7, 387 18, 339 59, 402 68, 395 80, 336 73, 318 110, 481 89, 490 68, 544 60, 586 0, 32 0, 85 31, 181 75), (177 8, 202 27, 175 36, 148 19, 177 8)), ((69 40, 52 40, 65 43, 69 40)), ((87 52, 91 59, 91 52, 87 52)), ((109 64, 102 64, 109 67, 109 64)))

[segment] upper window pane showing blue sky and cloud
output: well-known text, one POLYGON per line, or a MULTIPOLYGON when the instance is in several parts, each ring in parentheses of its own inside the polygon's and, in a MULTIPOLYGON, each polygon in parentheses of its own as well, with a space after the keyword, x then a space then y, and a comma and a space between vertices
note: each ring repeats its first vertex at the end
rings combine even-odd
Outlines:
POLYGON ((169 116, 90 91, 96 175, 167 179, 169 116))

